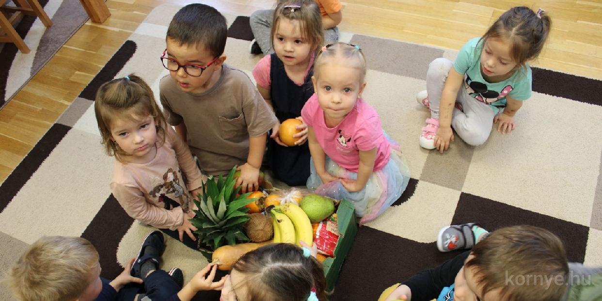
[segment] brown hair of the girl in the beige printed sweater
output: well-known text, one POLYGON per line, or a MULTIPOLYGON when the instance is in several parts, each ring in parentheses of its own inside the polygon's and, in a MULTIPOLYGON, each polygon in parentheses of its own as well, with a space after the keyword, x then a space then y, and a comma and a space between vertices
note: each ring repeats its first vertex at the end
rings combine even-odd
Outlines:
POLYGON ((136 119, 152 116, 157 123, 160 144, 165 141, 167 123, 163 112, 157 105, 151 87, 140 77, 130 74, 126 77, 105 82, 96 92, 94 104, 96 122, 101 132, 102 144, 107 155, 126 155, 112 139, 111 125, 115 119, 136 119))

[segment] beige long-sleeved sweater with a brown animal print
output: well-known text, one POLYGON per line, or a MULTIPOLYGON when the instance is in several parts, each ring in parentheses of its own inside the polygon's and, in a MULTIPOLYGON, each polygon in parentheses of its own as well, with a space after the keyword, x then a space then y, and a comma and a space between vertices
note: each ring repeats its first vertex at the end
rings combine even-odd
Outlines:
POLYGON ((157 142, 157 155, 149 163, 115 161, 111 192, 133 219, 175 230, 182 225, 184 213, 196 209, 190 191, 206 177, 171 126, 166 132, 165 143, 157 142))

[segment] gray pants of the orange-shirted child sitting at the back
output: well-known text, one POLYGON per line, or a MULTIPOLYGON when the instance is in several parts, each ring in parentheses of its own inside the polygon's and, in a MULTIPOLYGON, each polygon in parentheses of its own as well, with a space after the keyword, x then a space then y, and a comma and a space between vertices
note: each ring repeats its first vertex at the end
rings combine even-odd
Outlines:
MULTIPOLYGON (((251 14, 249 20, 253 36, 255 36, 255 40, 264 55, 274 51, 272 49, 272 37, 270 37, 272 19, 274 19, 274 10, 258 10, 251 14)), ((330 42, 337 42, 338 37, 337 26, 324 30, 324 45, 330 42)))

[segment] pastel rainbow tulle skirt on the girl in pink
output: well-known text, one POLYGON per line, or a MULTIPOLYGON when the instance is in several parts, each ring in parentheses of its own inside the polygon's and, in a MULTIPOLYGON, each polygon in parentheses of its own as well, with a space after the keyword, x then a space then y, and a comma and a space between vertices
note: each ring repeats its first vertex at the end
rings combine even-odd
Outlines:
MULTIPOLYGON (((408 164, 399 152, 399 144, 391 140, 391 156, 389 162, 382 169, 373 172, 364 189, 349 192, 341 181, 323 184, 320 176, 315 172, 314 160, 311 159, 311 173, 307 180, 308 190, 315 194, 332 197, 333 199, 346 199, 355 205, 355 213, 361 217, 359 223, 367 223, 382 214, 402 195, 408 187, 410 172, 408 164)), ((326 171, 337 178, 357 179, 358 174, 344 169, 339 164, 326 157, 324 164, 326 171)))

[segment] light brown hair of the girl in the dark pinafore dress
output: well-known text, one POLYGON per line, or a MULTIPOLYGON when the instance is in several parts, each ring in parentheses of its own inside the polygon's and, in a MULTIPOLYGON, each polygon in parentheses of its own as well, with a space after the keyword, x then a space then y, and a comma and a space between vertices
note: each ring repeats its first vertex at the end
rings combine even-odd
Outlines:
POLYGON ((322 30, 322 16, 320 7, 314 0, 284 0, 279 1, 274 10, 272 29, 270 31, 270 45, 274 46, 276 30, 282 18, 299 20, 299 31, 301 37, 312 46, 312 51, 318 51, 324 43, 324 31, 322 30), (296 5, 299 7, 290 7, 296 5))

